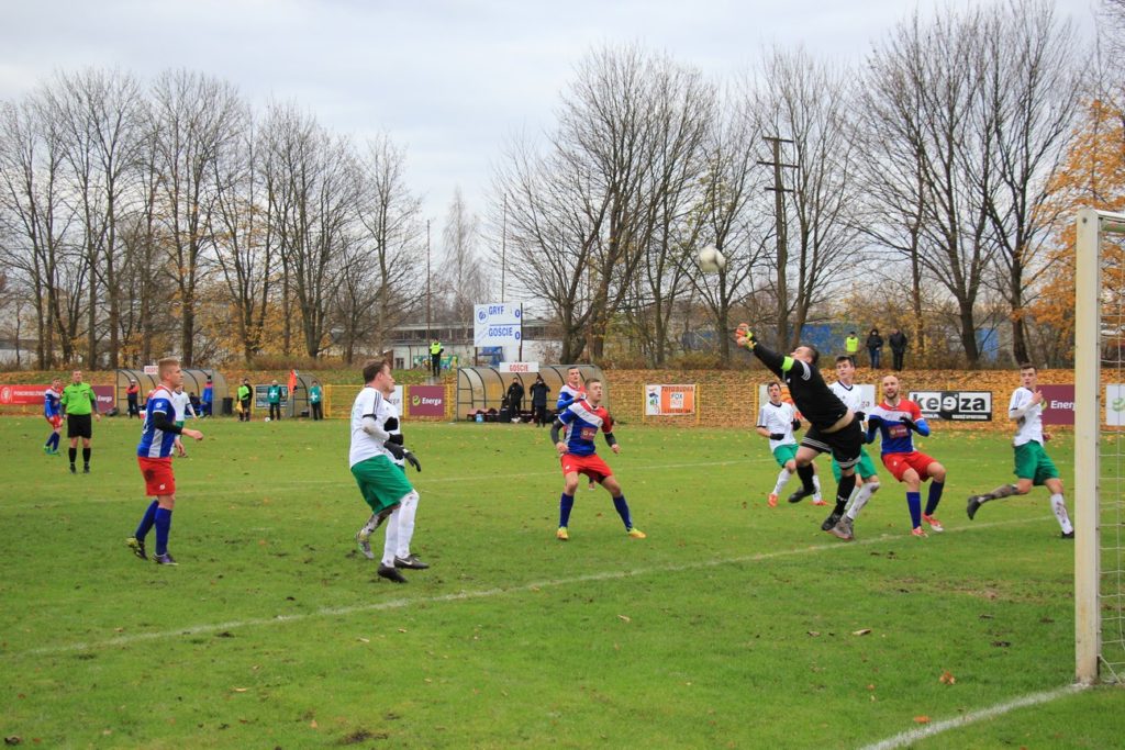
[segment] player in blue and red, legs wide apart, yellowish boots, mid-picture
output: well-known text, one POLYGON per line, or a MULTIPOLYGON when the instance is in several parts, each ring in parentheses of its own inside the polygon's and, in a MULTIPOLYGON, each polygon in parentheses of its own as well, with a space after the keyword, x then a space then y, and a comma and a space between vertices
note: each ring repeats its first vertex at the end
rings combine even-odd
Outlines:
POLYGON ((559 412, 551 425, 551 442, 559 452, 566 482, 559 497, 559 528, 556 536, 562 542, 570 539, 567 525, 574 507, 574 493, 578 489, 578 475, 583 473, 591 481, 601 484, 613 498, 613 507, 626 525, 626 533, 632 539, 645 539, 645 532, 632 524, 629 504, 626 503, 613 470, 597 455, 594 439, 598 432, 605 434, 605 443, 614 453, 621 452, 621 446, 613 436, 613 418, 602 406, 602 381, 591 378, 586 381, 585 397, 574 399, 559 412))

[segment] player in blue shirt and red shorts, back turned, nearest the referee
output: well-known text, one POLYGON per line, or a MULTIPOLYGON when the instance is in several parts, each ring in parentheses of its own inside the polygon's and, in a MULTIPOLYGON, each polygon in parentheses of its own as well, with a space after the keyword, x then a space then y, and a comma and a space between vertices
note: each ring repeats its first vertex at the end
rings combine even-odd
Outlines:
POLYGON ((176 506, 176 477, 172 475, 172 448, 177 435, 187 435, 202 440, 198 430, 188 430, 176 424, 176 407, 172 406, 172 391, 183 385, 183 371, 180 361, 169 356, 158 363, 160 368, 160 385, 148 395, 145 405, 144 424, 141 426, 141 443, 137 445, 137 463, 144 476, 145 491, 155 497, 144 515, 133 536, 125 540, 133 553, 142 560, 147 560, 144 540, 153 526, 156 527, 156 554, 153 558, 158 564, 174 566, 176 560, 168 552, 168 536, 172 530, 172 508, 176 506))

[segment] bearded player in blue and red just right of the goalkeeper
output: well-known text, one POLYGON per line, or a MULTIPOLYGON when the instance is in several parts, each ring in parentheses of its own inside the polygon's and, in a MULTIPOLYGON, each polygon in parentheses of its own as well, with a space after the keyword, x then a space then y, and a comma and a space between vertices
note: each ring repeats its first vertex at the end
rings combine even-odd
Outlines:
POLYGON ((902 398, 896 376, 883 378, 883 401, 867 415, 867 442, 873 442, 875 432, 882 436, 883 466, 894 478, 907 486, 907 506, 910 508, 911 534, 926 536, 921 527, 925 521, 935 532, 945 531, 942 522, 934 517, 937 504, 945 489, 945 467, 930 457, 915 450, 912 432, 929 436, 929 425, 921 416, 921 409, 910 399, 902 398), (921 509, 921 482, 930 479, 926 510, 921 509))

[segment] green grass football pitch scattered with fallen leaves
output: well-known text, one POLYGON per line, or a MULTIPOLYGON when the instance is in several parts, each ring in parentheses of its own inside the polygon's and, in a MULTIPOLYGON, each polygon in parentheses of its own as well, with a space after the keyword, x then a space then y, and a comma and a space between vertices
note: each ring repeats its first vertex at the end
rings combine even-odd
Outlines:
MULTIPOLYGON (((648 539, 583 482, 560 543, 546 430, 407 424, 414 551, 433 567, 396 586, 352 541, 368 510, 345 422, 201 428, 176 461, 180 564, 161 568, 124 544, 146 505, 138 423, 96 424, 93 473, 71 476, 42 454, 42 419, 0 419, 4 737, 849 748, 1073 678, 1073 548, 1046 493, 965 517, 966 495, 1011 476, 1004 435, 920 442, 950 471, 944 534, 911 539, 881 472, 843 543, 819 530, 826 508, 766 506, 777 469, 749 431, 622 425, 621 454, 602 452, 648 539)), ((1069 485, 1070 437, 1048 450, 1069 485)), ((916 747, 1114 747, 1123 698, 1087 690, 916 747)))

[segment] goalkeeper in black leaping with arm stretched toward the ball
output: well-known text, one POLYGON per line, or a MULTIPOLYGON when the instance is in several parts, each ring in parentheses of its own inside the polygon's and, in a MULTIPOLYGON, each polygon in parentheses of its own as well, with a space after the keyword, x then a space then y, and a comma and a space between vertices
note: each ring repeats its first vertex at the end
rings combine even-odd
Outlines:
MULTIPOLYGON (((856 414, 836 397, 820 377, 817 360, 820 354, 813 346, 798 346, 789 356, 772 352, 754 338, 747 324, 738 326, 735 342, 754 352, 766 369, 789 386, 789 394, 809 422, 809 430, 796 451, 796 476, 801 478, 801 496, 812 495, 812 462, 820 453, 831 453, 840 467, 836 487, 836 507, 820 525, 830 531, 844 515, 847 499, 855 489, 855 467, 863 446, 863 414, 856 414)), ((800 498, 798 498, 800 499, 800 498)))

